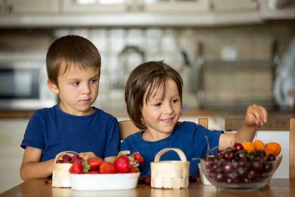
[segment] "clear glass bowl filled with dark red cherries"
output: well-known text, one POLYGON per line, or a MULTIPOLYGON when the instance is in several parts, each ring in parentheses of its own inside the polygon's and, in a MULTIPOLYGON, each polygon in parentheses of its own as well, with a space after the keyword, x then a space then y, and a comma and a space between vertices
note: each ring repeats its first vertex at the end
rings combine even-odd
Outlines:
POLYGON ((266 150, 245 150, 236 143, 201 160, 208 181, 220 190, 256 191, 268 184, 282 161, 266 150))

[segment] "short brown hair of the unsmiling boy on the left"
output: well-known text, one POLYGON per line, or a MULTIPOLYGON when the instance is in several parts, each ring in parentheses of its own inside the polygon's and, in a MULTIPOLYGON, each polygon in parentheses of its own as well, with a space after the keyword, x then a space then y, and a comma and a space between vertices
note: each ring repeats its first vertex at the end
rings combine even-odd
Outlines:
POLYGON ((97 48, 88 39, 79 35, 66 35, 56 39, 48 49, 46 68, 48 79, 58 86, 60 66, 64 72, 71 66, 80 69, 99 68, 101 58, 97 48))

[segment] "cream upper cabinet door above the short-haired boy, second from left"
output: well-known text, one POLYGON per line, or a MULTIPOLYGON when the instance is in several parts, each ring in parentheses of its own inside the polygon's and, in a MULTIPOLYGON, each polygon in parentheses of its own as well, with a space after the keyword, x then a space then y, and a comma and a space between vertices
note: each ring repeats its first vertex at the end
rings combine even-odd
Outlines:
POLYGON ((62 13, 101 14, 134 10, 134 0, 61 0, 62 13))

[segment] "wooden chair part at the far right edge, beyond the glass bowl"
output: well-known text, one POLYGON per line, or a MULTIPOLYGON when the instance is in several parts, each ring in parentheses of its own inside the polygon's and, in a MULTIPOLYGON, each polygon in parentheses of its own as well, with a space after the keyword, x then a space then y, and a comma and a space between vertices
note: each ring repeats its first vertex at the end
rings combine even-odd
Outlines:
POLYGON ((295 118, 290 119, 289 178, 295 178, 295 118))

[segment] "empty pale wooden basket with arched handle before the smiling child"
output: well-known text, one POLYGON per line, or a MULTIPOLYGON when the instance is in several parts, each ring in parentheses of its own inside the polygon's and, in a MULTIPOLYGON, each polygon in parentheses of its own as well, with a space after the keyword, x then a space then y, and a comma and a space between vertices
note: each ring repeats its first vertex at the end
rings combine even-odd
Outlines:
POLYGON ((165 189, 180 189, 188 187, 189 164, 184 153, 177 148, 165 148, 159 151, 150 163, 151 187, 165 189), (181 161, 159 161, 160 157, 168 152, 175 151, 181 161))

